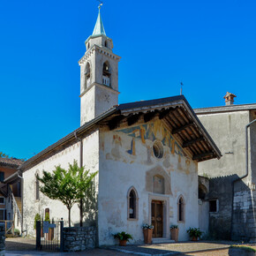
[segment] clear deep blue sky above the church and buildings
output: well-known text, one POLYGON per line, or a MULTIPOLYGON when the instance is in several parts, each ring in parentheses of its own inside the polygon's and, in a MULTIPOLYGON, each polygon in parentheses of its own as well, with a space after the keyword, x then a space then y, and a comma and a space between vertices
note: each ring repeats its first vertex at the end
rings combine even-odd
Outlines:
MULTIPOLYGON (((119 102, 179 94, 192 108, 256 102, 256 1, 105 0, 119 102)), ((79 127, 79 58, 96 0, 0 0, 0 151, 30 158, 79 127)))

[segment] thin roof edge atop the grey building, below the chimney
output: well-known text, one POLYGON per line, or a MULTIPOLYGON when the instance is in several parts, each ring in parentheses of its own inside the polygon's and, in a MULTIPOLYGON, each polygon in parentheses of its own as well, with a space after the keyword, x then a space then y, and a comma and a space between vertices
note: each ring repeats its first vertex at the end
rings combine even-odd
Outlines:
POLYGON ((256 103, 194 109, 194 112, 196 114, 210 114, 220 112, 246 111, 251 109, 256 109, 256 103))

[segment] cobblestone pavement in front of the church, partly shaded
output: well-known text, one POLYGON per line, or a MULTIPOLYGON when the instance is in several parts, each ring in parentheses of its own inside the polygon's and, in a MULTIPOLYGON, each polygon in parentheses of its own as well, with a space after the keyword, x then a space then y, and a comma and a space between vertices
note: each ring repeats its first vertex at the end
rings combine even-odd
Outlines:
MULTIPOLYGON (((106 256, 128 256, 128 255, 190 255, 190 256, 226 256, 229 255, 229 246, 234 245, 232 242, 220 241, 203 241, 203 242, 186 242, 176 244, 156 244, 156 245, 127 245, 109 246, 108 250, 94 249, 85 252, 38 252, 34 251, 35 239, 29 238, 6 238, 6 256, 19 255, 106 255, 106 256), (19 252, 18 252, 19 251, 19 252)), ((251 245, 256 249, 256 245, 251 245)))

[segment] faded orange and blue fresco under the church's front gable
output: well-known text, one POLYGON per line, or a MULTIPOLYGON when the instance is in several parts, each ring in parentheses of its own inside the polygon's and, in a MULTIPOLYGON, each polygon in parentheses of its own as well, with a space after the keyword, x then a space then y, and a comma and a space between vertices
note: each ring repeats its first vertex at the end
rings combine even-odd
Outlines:
POLYGON ((102 151, 105 152, 107 160, 147 165, 157 162, 169 171, 184 169, 189 172, 190 159, 161 120, 120 129, 110 134, 108 143, 102 138, 102 151), (106 145, 110 147, 106 148, 106 145))

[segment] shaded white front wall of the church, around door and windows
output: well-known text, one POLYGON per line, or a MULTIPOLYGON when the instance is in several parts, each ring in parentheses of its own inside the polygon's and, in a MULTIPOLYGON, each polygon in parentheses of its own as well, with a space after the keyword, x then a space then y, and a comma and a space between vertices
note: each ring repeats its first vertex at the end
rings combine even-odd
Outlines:
POLYGON ((199 226, 197 162, 185 156, 159 120, 149 125, 101 132, 99 181, 100 245, 114 244, 112 234, 119 231, 132 234, 132 243, 142 242, 141 226, 151 222, 151 200, 165 201, 164 237, 170 236, 170 224, 178 224, 180 241, 188 239, 186 230, 189 227, 199 226), (154 139, 163 141, 162 159, 153 154, 154 139), (170 194, 148 191, 147 171, 151 169, 159 169, 170 177, 170 194), (132 186, 139 194, 139 218, 136 221, 127 220, 127 192, 132 186), (184 222, 177 222, 180 195, 185 200, 184 222))

